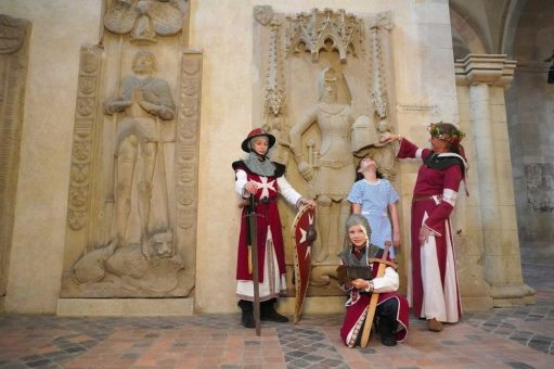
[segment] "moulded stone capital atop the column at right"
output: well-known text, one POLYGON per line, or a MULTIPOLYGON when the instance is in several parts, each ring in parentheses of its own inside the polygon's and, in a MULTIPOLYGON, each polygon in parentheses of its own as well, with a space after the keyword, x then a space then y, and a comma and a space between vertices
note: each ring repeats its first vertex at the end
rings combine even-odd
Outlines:
POLYGON ((468 54, 454 64, 456 85, 487 84, 508 88, 514 79, 516 63, 506 60, 505 54, 468 54))

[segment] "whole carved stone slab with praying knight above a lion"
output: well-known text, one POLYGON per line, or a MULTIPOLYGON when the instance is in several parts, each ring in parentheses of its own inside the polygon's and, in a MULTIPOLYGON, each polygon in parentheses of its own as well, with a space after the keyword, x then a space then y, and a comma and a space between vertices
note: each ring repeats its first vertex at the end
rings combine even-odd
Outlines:
POLYGON ((189 2, 107 1, 85 44, 62 297, 186 297, 195 283, 202 54, 189 2))

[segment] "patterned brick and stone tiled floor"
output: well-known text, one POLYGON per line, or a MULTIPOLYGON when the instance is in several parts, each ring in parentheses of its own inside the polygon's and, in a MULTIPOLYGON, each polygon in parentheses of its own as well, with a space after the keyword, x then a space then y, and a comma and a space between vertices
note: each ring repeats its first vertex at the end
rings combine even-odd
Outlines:
POLYGON ((408 340, 340 342, 340 315, 239 325, 239 313, 179 318, 0 315, 0 368, 554 368, 554 267, 524 265, 537 304, 466 314, 441 333, 412 319, 408 340))

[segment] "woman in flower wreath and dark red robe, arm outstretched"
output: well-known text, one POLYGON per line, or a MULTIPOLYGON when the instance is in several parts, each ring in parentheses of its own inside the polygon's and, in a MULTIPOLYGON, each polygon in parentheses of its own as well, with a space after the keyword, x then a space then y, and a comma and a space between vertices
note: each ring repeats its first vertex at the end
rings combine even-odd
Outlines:
POLYGON ((468 166, 460 144, 464 132, 449 123, 430 124, 428 131, 431 149, 389 132, 381 141, 400 140, 399 158, 423 160, 412 199, 409 300, 415 316, 440 332, 441 322, 453 323, 462 316, 450 214, 468 166))

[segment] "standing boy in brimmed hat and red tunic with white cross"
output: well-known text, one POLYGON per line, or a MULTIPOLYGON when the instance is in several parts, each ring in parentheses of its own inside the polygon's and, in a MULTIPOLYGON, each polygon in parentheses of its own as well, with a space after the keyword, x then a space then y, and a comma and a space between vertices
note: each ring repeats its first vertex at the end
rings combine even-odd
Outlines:
MULTIPOLYGON (((275 144, 275 137, 257 128, 248 133, 241 148, 248 153, 245 160, 232 164, 235 171, 235 191, 243 199, 254 196, 257 215, 257 245, 260 319, 286 322, 288 318, 275 311, 273 304, 281 291, 286 288, 285 253, 281 219, 278 208, 280 193, 288 203, 298 207, 300 204, 315 206, 312 200, 304 199, 288 183, 285 166, 268 157, 269 150, 275 144)), ((236 296, 242 309, 241 323, 255 328, 253 315, 254 282, 248 270, 248 227, 246 208, 243 208, 241 234, 236 263, 236 296)), ((255 260, 253 260, 255 262, 255 260)))

